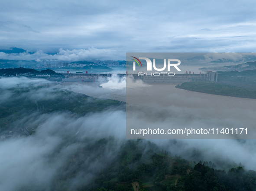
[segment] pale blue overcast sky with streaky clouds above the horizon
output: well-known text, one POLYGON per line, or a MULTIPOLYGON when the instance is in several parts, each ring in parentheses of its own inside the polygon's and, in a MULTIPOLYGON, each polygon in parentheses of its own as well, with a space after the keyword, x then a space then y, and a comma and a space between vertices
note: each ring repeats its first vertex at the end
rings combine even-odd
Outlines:
POLYGON ((126 52, 255 52, 256 2, 0 2, 0 59, 125 59, 126 52), (49 55, 52 54, 52 55, 49 55))

